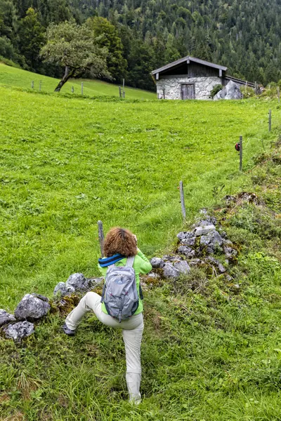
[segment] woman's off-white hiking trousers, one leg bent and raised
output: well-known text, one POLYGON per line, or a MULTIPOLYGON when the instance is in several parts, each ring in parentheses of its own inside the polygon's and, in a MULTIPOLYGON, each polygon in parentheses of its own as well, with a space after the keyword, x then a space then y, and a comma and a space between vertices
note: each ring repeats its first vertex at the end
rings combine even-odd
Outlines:
POLYGON ((97 293, 86 293, 79 305, 68 314, 65 323, 67 328, 76 329, 86 312, 93 312, 103 324, 112 328, 123 329, 123 339, 126 350, 126 383, 129 400, 135 403, 141 401, 141 338, 143 336, 143 313, 122 320, 121 323, 101 309, 101 297, 97 293))

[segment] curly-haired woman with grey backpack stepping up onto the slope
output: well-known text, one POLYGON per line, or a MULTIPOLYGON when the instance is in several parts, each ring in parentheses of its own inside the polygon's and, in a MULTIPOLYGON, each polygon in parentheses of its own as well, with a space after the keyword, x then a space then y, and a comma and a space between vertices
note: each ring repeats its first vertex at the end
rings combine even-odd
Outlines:
POLYGON ((139 275, 148 274, 152 267, 137 248, 136 236, 128 229, 110 229, 103 251, 106 257, 98 260, 100 272, 105 276, 103 295, 86 293, 67 316, 63 331, 74 335, 84 314, 91 311, 106 326, 122 329, 129 400, 139 403, 143 336, 143 293, 139 275))

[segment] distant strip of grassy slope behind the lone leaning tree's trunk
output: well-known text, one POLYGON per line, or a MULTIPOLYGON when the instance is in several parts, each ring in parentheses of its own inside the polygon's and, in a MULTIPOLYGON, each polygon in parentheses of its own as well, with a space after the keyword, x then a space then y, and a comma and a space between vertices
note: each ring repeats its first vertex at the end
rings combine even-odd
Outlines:
MULTIPOLYGON (((39 91, 39 83, 41 84, 41 91, 53 93, 55 86, 59 80, 52 77, 42 76, 41 74, 27 72, 26 70, 16 69, 0 63, 0 85, 15 86, 18 88, 30 89, 31 83, 34 81, 34 91, 39 91)), ((74 93, 81 94, 81 81, 84 82, 83 93, 89 96, 112 95, 119 96, 119 88, 112 83, 106 83, 96 80, 73 79, 65 83, 61 92, 71 93, 71 88, 74 86, 74 93)), ((126 99, 131 100, 153 100, 156 94, 141 89, 128 88, 125 86, 126 99)))

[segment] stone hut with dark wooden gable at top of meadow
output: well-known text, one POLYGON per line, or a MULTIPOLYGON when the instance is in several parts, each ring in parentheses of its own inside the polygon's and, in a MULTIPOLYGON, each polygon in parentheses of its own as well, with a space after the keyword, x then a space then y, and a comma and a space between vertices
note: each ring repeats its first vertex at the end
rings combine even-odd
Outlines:
POLYGON ((240 86, 254 88, 254 83, 228 76, 227 67, 183 57, 169 65, 153 70, 157 85, 157 98, 166 100, 209 100, 216 85, 226 86, 232 80, 240 86))

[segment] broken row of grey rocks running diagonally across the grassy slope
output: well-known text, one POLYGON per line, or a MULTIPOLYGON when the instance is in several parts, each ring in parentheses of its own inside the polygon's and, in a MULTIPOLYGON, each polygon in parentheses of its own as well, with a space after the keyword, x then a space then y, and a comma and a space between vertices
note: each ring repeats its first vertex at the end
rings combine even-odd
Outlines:
MULTIPOLYGON (((230 196, 231 198, 233 196, 230 196)), ((244 199, 244 196, 243 196, 244 199)), ((216 276, 223 274, 227 281, 233 281, 233 278, 227 273, 227 269, 222 262, 217 260, 214 255, 216 251, 222 256, 224 253, 224 262, 228 265, 235 261, 237 250, 232 241, 227 239, 226 232, 219 226, 214 216, 210 216, 207 210, 200 211, 200 218, 192 226, 190 231, 182 231, 177 234, 178 246, 176 252, 169 255, 163 255, 162 258, 152 258, 152 272, 143 278, 151 285, 161 282, 163 279, 176 281, 181 276, 186 276, 191 272, 190 267, 211 267, 216 276)), ((87 279, 84 274, 75 273, 70 275, 66 282, 59 282, 54 289, 54 295, 71 295, 74 292, 86 292, 93 286, 98 285, 103 278, 87 279)), ((148 285, 148 283, 145 283, 148 285)), ((233 283, 233 288, 237 291, 239 284, 233 283)), ((77 295, 73 295, 77 299, 77 295)), ((58 309, 62 302, 67 300, 55 301, 58 309)), ((0 326, 8 324, 3 328, 6 338, 21 340, 34 333, 32 321, 37 321, 46 316, 51 306, 48 298, 43 295, 26 294, 18 307, 15 309, 15 316, 8 314, 4 309, 0 309, 0 326), (18 319, 18 323, 14 323, 18 319)))

